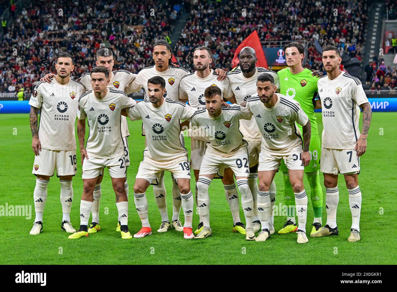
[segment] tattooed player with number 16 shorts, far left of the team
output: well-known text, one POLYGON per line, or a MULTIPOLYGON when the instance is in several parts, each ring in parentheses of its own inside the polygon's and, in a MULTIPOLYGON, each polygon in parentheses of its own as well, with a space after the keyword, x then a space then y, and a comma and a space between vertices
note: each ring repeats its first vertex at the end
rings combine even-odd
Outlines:
POLYGON ((62 224, 68 233, 76 230, 70 223, 70 209, 73 200, 72 177, 76 174, 75 120, 77 101, 85 93, 84 87, 70 78, 74 70, 73 57, 63 52, 58 55, 56 76, 53 83, 39 81, 33 90, 29 104, 32 148, 35 153, 32 173, 37 176, 33 199, 36 218, 30 234, 37 235, 43 229, 43 211, 47 200, 47 186, 50 176, 57 176, 61 184, 62 224), (40 109, 40 125, 37 113, 40 109))

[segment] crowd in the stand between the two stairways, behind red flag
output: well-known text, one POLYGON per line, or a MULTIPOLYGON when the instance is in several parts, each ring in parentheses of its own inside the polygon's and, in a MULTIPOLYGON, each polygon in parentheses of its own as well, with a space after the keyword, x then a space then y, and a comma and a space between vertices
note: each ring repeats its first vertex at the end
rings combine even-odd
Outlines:
POLYGON ((256 30, 265 46, 276 44, 275 41, 307 41, 306 68, 322 69, 315 40, 321 46, 337 46, 341 53, 348 52, 361 60, 368 3, 368 0, 232 0, 227 5, 200 2, 191 8, 174 52, 181 66, 192 70, 191 49, 208 46, 213 52, 212 66, 229 70, 235 48, 256 30))

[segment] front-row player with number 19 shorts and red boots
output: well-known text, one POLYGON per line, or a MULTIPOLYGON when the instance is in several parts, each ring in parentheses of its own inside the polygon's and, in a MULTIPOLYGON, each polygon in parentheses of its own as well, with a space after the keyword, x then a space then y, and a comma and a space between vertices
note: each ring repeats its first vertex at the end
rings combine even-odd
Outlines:
POLYGON ((148 144, 143 151, 143 161, 139 164, 134 185, 135 207, 142 221, 142 228, 134 237, 142 238, 152 234, 145 193, 158 175, 166 170, 171 172, 179 188, 185 214, 183 237, 191 239, 193 195, 190 190, 190 168, 187 150, 179 140, 179 135, 180 120, 190 119, 195 109, 183 102, 164 98, 166 81, 163 77, 150 78, 147 81, 147 91, 148 101, 138 102, 133 108, 127 109, 131 120, 143 120, 148 144))

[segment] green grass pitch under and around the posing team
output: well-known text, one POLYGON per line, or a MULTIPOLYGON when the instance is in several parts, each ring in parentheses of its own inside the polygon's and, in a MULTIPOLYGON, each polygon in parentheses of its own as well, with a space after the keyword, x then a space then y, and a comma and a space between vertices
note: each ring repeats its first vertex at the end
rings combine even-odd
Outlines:
MULTIPOLYGON (((320 114, 316 114, 319 131, 322 131, 320 114)), ((225 200, 220 180, 210 186, 210 220, 212 237, 205 240, 184 240, 182 233, 170 230, 159 234, 160 215, 154 201, 153 189, 146 191, 149 202, 149 220, 153 234, 147 238, 121 240, 115 231, 118 212, 110 176, 105 170, 102 182, 100 221, 102 230, 79 240, 69 240, 61 230, 62 208, 60 184, 53 176, 48 186, 48 199, 44 210, 44 229, 38 236, 29 231, 34 220, 33 190, 35 176, 31 174, 34 154, 31 149, 31 131, 28 114, 1 114, 0 139, 0 205, 31 205, 32 218, 15 216, 0 217, 1 264, 394 264, 396 263, 395 230, 389 224, 395 221, 396 160, 395 160, 395 113, 374 113, 368 137, 368 149, 360 159, 359 175, 362 190, 361 241, 350 243, 351 213, 348 193, 342 176, 339 176, 339 205, 337 210, 338 236, 310 238, 308 244, 299 245, 296 234, 277 234, 285 221, 275 217, 276 234, 264 242, 247 242, 245 236, 233 233, 231 214, 225 200), (394 206, 394 207, 393 207, 394 206), (105 214, 108 208, 108 214, 105 214)), ((361 126, 360 126, 361 128, 361 126)), ((88 128, 87 128, 88 130, 88 128)), ((142 159, 144 138, 141 122, 130 122, 129 151, 131 166, 127 172, 130 187, 129 228, 131 233, 141 227, 133 203, 133 184, 142 159)), ((189 138, 185 138, 189 150, 189 138)), ((79 152, 77 153, 79 157, 79 152)), ((79 160, 78 160, 79 161, 79 160)), ((79 205, 83 182, 81 164, 73 178, 74 199, 71 222, 79 227, 79 205)), ((323 180, 320 174, 320 180, 323 180)), ((170 174, 166 174, 168 213, 172 217, 170 174)), ((306 191, 308 189, 304 179, 306 191)), ((276 174, 277 201, 283 203, 283 182, 276 174)), ((194 182, 191 183, 194 190, 194 182)), ((323 224, 326 222, 325 188, 323 186, 323 224)), ((313 211, 309 197, 306 230, 310 233, 313 211)), ((4 207, 3 207, 4 208, 4 207)), ((241 219, 244 215, 241 210, 241 219)), ((183 213, 181 212, 183 221, 183 213)), ((198 215, 193 217, 193 228, 198 215)), ((194 230, 194 229, 193 229, 194 230)))

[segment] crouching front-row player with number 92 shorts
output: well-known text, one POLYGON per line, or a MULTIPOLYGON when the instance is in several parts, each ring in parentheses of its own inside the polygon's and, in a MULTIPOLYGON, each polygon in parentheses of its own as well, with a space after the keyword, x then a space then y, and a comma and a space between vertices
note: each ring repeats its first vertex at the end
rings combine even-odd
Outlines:
MULTIPOLYGON (((249 160, 248 143, 239 131, 239 119, 249 120, 251 113, 242 111, 239 105, 222 106, 222 90, 218 86, 209 86, 204 91, 206 108, 197 110, 191 119, 192 130, 205 131, 209 126, 214 137, 209 137, 205 155, 202 157, 197 180, 197 206, 200 209, 202 230, 195 238, 207 238, 212 235, 210 228, 210 197, 208 188, 216 174, 222 174, 225 167, 231 168, 241 193, 241 205, 245 215, 245 239, 254 240, 252 228, 253 199, 248 186, 249 160)), ((233 176, 232 176, 233 178, 233 176)), ((233 180, 234 183, 234 180, 233 180)))

